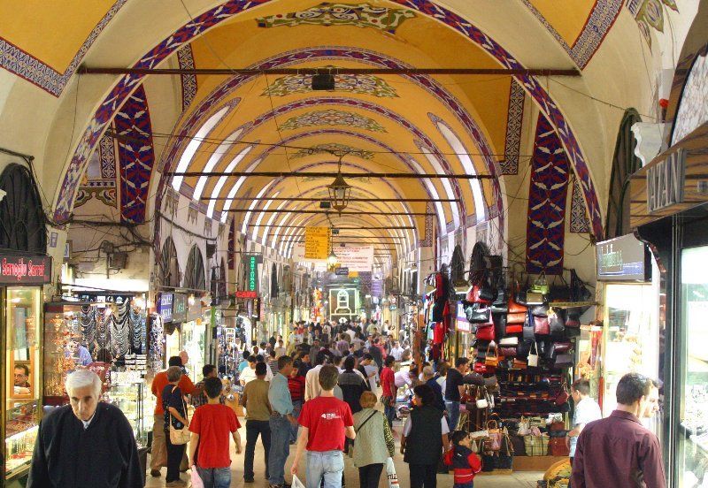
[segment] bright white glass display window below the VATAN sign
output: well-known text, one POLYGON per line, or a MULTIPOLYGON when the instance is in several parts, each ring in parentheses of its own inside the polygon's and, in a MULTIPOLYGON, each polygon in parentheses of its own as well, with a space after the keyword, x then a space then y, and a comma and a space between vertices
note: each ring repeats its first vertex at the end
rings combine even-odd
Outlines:
POLYGON ((708 247, 681 255, 682 398, 679 419, 679 486, 708 485, 708 278, 702 270, 708 247))

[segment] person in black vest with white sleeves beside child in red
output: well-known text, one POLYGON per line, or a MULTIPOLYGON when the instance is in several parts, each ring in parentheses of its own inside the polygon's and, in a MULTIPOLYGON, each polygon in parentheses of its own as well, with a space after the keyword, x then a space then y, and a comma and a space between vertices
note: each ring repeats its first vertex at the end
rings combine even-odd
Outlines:
POLYGON ((448 423, 435 408, 435 393, 428 385, 413 388, 414 408, 401 433, 401 454, 408 463, 412 488, 435 488, 440 454, 447 452, 448 423))

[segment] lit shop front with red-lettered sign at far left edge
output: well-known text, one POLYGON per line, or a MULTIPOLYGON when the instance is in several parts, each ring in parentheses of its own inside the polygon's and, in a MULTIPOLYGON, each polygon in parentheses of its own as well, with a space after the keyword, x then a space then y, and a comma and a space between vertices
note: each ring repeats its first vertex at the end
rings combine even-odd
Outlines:
POLYGON ((0 361, 4 480, 27 473, 42 418, 42 285, 51 258, 0 255, 0 361))

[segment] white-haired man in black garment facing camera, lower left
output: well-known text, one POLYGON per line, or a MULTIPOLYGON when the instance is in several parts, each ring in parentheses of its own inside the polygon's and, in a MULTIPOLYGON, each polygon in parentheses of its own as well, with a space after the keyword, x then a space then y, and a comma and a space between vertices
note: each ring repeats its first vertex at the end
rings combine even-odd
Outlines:
POLYGON ((65 388, 70 404, 39 424, 27 487, 142 486, 133 430, 119 408, 100 401, 101 379, 77 370, 65 388))

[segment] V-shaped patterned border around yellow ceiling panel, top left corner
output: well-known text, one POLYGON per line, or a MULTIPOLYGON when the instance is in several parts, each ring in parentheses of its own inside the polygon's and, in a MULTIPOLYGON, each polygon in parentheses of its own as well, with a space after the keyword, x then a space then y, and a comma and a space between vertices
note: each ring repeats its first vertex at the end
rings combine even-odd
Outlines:
POLYGON ((117 0, 109 11, 105 13, 104 18, 96 24, 96 27, 93 28, 89 37, 81 44, 81 48, 79 48, 79 51, 74 55, 65 72, 58 72, 50 65, 45 65, 36 57, 33 57, 31 54, 19 49, 11 42, 7 42, 2 38, 0 38, 0 66, 24 78, 30 83, 34 83, 37 87, 42 88, 51 95, 61 95, 66 83, 69 82, 73 72, 75 72, 76 68, 81 64, 81 60, 89 51, 94 41, 96 41, 98 34, 101 34, 104 27, 126 2, 127 0, 117 0))

